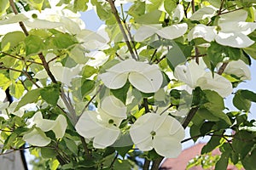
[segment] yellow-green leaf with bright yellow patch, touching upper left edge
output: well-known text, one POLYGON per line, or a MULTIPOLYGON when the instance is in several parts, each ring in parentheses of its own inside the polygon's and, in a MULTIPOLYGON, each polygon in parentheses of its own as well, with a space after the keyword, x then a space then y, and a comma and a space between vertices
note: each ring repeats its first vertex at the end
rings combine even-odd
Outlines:
POLYGON ((9 32, 3 37, 1 48, 3 51, 8 51, 11 48, 15 48, 25 38, 26 36, 21 31, 9 32))

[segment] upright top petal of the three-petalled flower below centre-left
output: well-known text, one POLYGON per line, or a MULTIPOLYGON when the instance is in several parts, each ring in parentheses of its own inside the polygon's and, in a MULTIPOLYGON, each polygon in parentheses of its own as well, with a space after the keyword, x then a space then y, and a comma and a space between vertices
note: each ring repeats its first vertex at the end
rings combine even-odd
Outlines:
POLYGON ((112 95, 102 100, 101 108, 110 116, 115 116, 122 119, 125 119, 127 117, 125 105, 119 99, 116 99, 112 95))

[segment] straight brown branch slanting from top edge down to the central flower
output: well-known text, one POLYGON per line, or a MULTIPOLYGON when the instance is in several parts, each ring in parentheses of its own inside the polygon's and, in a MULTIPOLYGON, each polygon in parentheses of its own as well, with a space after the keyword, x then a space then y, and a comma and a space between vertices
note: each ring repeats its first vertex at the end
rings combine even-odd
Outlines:
POLYGON ((123 37, 125 38, 125 43, 126 43, 126 45, 127 45, 127 48, 128 48, 129 51, 130 51, 131 57, 132 57, 133 59, 136 59, 136 60, 137 60, 137 57, 136 57, 136 55, 134 54, 134 52, 133 52, 133 50, 132 50, 132 48, 131 48, 131 43, 129 42, 129 39, 128 39, 126 33, 125 33, 125 29, 124 29, 124 27, 123 27, 123 25, 122 25, 122 23, 121 23, 121 21, 120 21, 120 19, 119 19, 119 14, 118 14, 117 9, 116 9, 115 6, 114 6, 114 1, 113 1, 113 0, 108 0, 108 3, 110 4, 110 7, 111 7, 112 12, 113 12, 113 15, 114 15, 114 17, 115 17, 115 20, 117 20, 117 22, 118 22, 119 29, 120 29, 120 31, 122 32, 123 37))

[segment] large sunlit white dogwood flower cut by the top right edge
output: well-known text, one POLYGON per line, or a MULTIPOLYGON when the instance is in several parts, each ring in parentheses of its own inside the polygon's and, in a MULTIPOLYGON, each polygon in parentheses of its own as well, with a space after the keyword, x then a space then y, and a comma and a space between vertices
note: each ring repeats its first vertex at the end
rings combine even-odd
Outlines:
POLYGON ((191 41, 197 37, 202 37, 207 42, 216 41, 221 45, 233 48, 247 48, 253 45, 254 41, 247 37, 256 29, 256 23, 246 22, 247 12, 239 10, 232 14, 221 15, 216 26, 197 25, 188 34, 188 40, 191 41), (236 15, 238 17, 236 17, 236 15))

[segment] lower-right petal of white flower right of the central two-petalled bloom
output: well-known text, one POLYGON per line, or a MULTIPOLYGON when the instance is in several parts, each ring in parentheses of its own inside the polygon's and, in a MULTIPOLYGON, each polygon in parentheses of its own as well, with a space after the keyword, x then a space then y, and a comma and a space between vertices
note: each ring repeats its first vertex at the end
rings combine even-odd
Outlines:
POLYGON ((216 73, 212 78, 211 72, 207 72, 204 77, 199 78, 196 84, 202 89, 214 90, 223 98, 229 96, 233 91, 230 81, 216 73))

